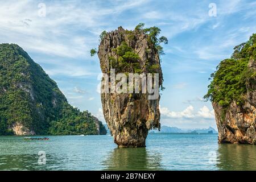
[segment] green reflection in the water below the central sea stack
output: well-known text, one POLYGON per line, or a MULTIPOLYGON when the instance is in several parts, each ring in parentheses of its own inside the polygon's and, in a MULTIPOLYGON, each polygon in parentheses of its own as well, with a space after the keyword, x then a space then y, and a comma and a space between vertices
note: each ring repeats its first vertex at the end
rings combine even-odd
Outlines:
POLYGON ((107 170, 160 170, 161 155, 146 148, 115 148, 104 161, 107 170))

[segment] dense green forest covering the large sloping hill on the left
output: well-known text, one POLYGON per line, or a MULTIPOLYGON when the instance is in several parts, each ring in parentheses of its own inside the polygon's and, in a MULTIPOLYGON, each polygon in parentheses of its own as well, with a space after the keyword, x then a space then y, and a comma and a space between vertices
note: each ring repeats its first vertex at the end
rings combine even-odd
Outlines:
POLYGON ((72 120, 75 129, 69 134, 96 133, 96 118, 69 105, 56 82, 22 48, 0 44, 0 135, 12 134, 17 122, 36 134, 66 134, 72 120), (67 128, 61 133, 56 125, 67 128))

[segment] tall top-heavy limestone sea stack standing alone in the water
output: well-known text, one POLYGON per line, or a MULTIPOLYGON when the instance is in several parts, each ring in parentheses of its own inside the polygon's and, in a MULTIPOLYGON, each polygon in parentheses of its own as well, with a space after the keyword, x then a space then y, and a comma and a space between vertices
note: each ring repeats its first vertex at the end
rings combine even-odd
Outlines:
MULTIPOLYGON (((129 73, 137 73, 140 76, 143 73, 159 75, 156 86, 158 97, 155 99, 148 99, 150 94, 143 93, 142 85, 139 86, 139 93, 134 90, 133 93, 101 92, 104 117, 114 142, 119 147, 145 147, 148 130, 160 130, 159 87, 162 86, 163 76, 159 49, 156 43, 151 41, 152 37, 148 35, 148 31, 150 29, 145 31, 138 26, 133 31, 118 27, 118 30, 101 35, 98 57, 104 75, 110 77, 113 69, 115 76, 118 73, 124 73, 126 76, 129 73)), ((113 80, 109 78, 107 82, 111 88, 113 80)), ((117 80, 114 82, 118 83, 117 80)))

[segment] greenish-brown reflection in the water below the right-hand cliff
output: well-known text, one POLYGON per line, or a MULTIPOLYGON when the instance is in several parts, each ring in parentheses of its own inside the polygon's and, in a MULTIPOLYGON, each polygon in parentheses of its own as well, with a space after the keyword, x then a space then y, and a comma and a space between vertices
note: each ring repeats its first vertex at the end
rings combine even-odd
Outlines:
POLYGON ((256 170, 256 146, 220 144, 218 153, 220 170, 256 170))

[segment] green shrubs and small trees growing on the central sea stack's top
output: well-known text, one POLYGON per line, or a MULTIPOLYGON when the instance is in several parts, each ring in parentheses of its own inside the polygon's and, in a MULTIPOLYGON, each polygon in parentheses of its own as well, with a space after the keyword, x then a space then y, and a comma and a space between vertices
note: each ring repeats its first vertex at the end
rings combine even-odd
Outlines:
MULTIPOLYGON (((150 28, 144 28, 144 23, 139 23, 135 30, 125 30, 124 32, 121 32, 121 35, 126 35, 127 43, 123 41, 120 46, 117 48, 114 48, 113 51, 116 53, 116 56, 110 56, 109 59, 109 68, 115 69, 115 72, 123 72, 126 75, 128 73, 143 73, 144 66, 141 65, 141 58, 137 53, 135 53, 134 48, 130 47, 129 45, 134 44, 134 40, 137 38, 137 36, 140 36, 141 34, 146 35, 147 42, 148 42, 148 48, 146 49, 146 53, 149 54, 150 52, 158 52, 159 55, 164 55, 163 47, 160 46, 161 43, 168 44, 168 39, 164 36, 161 36, 159 38, 161 30, 158 27, 150 27, 150 28), (129 44, 129 45, 128 45, 129 44)), ((101 40, 103 40, 106 36, 107 32, 104 32, 104 34, 101 34, 101 40), (104 36, 102 36, 104 35, 104 36)), ((151 63, 153 64, 153 63, 151 63)), ((146 63, 147 71, 150 73, 157 73, 159 72, 160 64, 151 65, 150 63, 146 63)), ((108 72, 110 72, 110 69, 108 72)), ((147 72, 146 71, 146 72, 147 72)), ((162 76, 162 75, 161 75, 162 76)), ((163 76, 161 77, 163 80, 163 76)), ((161 89, 164 90, 163 85, 161 84, 161 89)))

